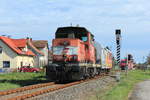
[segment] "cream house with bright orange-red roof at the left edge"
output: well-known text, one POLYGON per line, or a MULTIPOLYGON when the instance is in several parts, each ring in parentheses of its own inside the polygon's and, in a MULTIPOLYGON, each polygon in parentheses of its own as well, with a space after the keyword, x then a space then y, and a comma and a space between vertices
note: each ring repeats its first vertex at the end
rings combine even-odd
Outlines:
POLYGON ((35 56, 35 53, 28 48, 28 39, 0 36, 0 68, 34 66, 35 56))

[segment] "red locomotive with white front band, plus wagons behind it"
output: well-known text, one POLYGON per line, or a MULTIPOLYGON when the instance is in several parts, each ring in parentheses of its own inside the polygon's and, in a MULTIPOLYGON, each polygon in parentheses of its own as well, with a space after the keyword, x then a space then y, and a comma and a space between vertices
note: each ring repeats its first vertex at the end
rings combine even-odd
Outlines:
POLYGON ((95 42, 84 27, 60 27, 52 41, 52 63, 46 75, 52 80, 81 80, 112 68, 112 54, 95 42))

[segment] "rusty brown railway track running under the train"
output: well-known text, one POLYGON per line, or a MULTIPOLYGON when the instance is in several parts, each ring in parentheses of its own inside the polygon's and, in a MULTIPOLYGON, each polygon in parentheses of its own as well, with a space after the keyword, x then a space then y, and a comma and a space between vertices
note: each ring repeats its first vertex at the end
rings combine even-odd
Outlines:
POLYGON ((49 92, 67 88, 73 85, 81 84, 83 82, 95 80, 95 79, 104 77, 106 75, 107 74, 102 74, 92 79, 86 79, 86 80, 71 82, 67 84, 55 84, 54 82, 50 82, 50 83, 26 86, 26 87, 17 88, 17 89, 8 90, 8 91, 2 91, 0 92, 0 100, 25 100, 25 99, 29 99, 29 98, 42 95, 45 93, 49 93, 49 92))

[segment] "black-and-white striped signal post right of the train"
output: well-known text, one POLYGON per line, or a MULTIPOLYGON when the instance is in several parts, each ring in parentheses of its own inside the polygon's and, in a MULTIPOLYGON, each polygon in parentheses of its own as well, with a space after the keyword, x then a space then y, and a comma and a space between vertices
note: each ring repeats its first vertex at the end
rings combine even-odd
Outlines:
POLYGON ((121 48, 121 30, 116 30, 116 44, 117 44, 117 51, 116 51, 116 57, 117 57, 117 65, 120 64, 120 48, 121 48))

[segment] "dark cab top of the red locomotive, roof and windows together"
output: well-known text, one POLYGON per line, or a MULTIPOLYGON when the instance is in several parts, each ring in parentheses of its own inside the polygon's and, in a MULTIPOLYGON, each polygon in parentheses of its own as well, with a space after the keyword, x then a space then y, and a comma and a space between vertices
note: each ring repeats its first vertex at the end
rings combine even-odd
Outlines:
POLYGON ((82 27, 63 27, 56 31, 56 38, 78 38, 82 41, 87 41, 88 31, 82 27))

